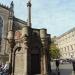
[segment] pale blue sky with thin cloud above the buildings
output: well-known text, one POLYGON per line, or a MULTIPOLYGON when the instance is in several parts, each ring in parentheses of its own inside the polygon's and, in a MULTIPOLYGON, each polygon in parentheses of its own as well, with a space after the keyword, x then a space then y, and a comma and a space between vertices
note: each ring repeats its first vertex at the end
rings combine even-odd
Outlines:
MULTIPOLYGON (((28 0, 0 0, 10 6, 14 2, 14 15, 27 21, 28 0)), ((75 27, 75 0, 31 0, 32 27, 46 28, 48 34, 60 36, 75 27)))

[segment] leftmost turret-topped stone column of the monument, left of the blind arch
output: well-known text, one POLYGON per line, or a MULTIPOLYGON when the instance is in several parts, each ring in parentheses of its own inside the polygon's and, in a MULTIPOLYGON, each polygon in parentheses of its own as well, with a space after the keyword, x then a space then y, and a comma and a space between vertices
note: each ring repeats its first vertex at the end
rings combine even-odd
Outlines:
POLYGON ((10 53, 9 53, 9 73, 10 73, 10 75, 13 75, 13 73, 12 73, 12 57, 13 57, 13 48, 14 48, 14 46, 15 46, 15 40, 14 40, 14 33, 13 33, 13 31, 12 30, 10 30, 9 32, 8 32, 8 36, 7 36, 7 40, 8 40, 8 43, 9 43, 9 45, 10 45, 10 53))

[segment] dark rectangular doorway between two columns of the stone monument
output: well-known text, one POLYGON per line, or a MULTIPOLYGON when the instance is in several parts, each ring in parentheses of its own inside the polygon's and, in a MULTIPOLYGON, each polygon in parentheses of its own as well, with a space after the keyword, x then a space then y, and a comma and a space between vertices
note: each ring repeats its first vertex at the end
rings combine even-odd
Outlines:
POLYGON ((40 54, 31 54, 31 75, 41 73, 40 54))

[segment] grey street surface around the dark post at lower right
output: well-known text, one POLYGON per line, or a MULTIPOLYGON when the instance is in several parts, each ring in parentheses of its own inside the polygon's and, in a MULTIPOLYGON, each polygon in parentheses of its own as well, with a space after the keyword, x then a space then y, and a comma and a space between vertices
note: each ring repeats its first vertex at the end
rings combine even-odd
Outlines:
MULTIPOLYGON (((55 63, 51 63, 51 68, 52 68, 52 72, 57 73, 56 72, 56 66, 55 63)), ((59 66, 59 71, 60 71, 60 75, 74 75, 73 74, 73 69, 72 69, 72 64, 60 64, 59 66)))

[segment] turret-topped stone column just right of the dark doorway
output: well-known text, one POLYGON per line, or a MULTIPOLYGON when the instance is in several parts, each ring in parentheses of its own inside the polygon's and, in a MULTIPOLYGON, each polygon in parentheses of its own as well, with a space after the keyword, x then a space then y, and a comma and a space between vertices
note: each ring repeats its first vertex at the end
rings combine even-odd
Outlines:
POLYGON ((46 65, 46 29, 40 30, 41 38, 41 75, 47 75, 46 65))

